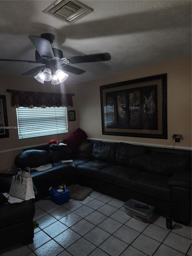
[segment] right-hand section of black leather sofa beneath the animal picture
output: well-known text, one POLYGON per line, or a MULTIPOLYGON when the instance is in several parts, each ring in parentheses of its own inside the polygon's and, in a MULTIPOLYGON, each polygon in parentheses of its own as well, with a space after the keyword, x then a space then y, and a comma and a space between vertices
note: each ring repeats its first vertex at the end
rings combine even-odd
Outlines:
POLYGON ((128 143, 94 143, 92 159, 75 162, 78 183, 122 201, 140 200, 155 206, 159 214, 171 213, 175 221, 188 224, 190 154, 146 152, 145 146, 128 143))

